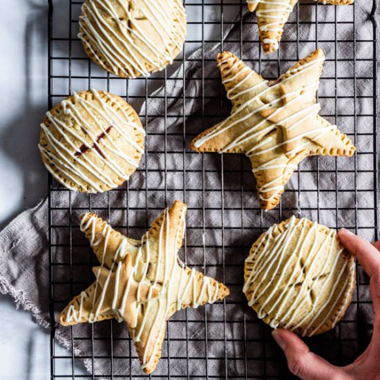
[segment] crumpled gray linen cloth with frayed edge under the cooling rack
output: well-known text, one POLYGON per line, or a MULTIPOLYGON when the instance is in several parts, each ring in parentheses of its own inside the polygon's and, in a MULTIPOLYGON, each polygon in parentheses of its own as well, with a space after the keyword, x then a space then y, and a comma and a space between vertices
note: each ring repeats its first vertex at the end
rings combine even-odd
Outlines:
MULTIPOLYGON (((316 30, 315 23, 305 23, 299 26, 296 41, 296 23, 288 23, 281 44, 280 66, 276 60, 277 55, 264 56, 260 53, 257 42, 240 41, 257 39, 257 26, 253 24, 254 15, 247 12, 243 6, 241 14, 236 15, 236 23, 225 27, 222 44, 205 44, 202 66, 202 51, 196 50, 184 66, 171 75, 171 78, 186 76, 186 86, 183 88, 182 79, 168 80, 167 123, 164 118, 155 117, 164 112, 164 88, 159 88, 150 97, 148 104, 143 104, 140 115, 148 113, 149 123, 147 129, 148 151, 144 155, 141 167, 129 182, 129 191, 111 191, 88 197, 84 194, 70 193, 68 191, 54 191, 50 194, 50 202, 55 209, 52 212, 53 225, 63 227, 52 229, 52 243, 66 245, 53 249, 53 262, 55 265, 52 274, 56 285, 54 287, 55 301, 53 307, 55 318, 71 297, 86 287, 86 283, 93 281, 90 264, 97 265, 88 249, 88 242, 84 240, 77 228, 67 227, 78 225, 78 216, 90 207, 99 215, 108 219, 113 226, 128 226, 129 236, 139 238, 149 223, 160 213, 166 205, 170 205, 175 198, 183 199, 189 205, 187 216, 187 263, 198 269, 207 266, 207 274, 215 276, 229 284, 231 296, 230 303, 216 304, 206 307, 207 330, 205 325, 198 321, 205 318, 205 308, 198 310, 181 311, 173 319, 178 323, 169 322, 169 336, 172 341, 165 343, 162 355, 171 357, 170 373, 178 375, 189 374, 193 377, 203 377, 206 374, 214 377, 225 377, 225 373, 236 377, 266 376, 284 377, 281 374, 284 362, 277 357, 278 350, 269 338, 269 328, 256 319, 256 315, 244 307, 244 297, 241 293, 243 286, 242 271, 243 260, 247 255, 249 246, 257 238, 260 229, 265 229, 281 219, 300 214, 318 220, 330 227, 357 228, 357 232, 373 240, 374 238, 374 174, 372 155, 374 149, 372 133, 374 126, 372 113, 372 43, 361 42, 371 40, 372 23, 370 23, 370 2, 357 1, 355 33, 359 42, 356 44, 357 61, 353 61, 354 29, 352 23, 345 24, 344 20, 352 21, 352 7, 319 6, 318 19, 327 21, 321 23, 316 30), (336 12, 336 13, 335 13, 336 12), (342 23, 337 26, 338 43, 334 44, 334 17, 342 23), (244 28, 240 38, 240 17, 244 28), (327 62, 323 71, 319 95, 322 112, 332 122, 336 122, 345 133, 354 133, 354 122, 358 133, 355 143, 358 151, 356 158, 310 158, 300 165, 299 173, 294 173, 287 185, 288 192, 283 195, 281 209, 263 213, 258 209, 258 200, 254 189, 254 178, 249 169, 249 162, 242 156, 207 154, 203 156, 187 152, 183 155, 183 132, 186 124, 186 148, 191 138, 206 127, 220 121, 220 111, 228 115, 229 102, 221 90, 218 69, 215 64, 216 54, 221 50, 231 50, 249 62, 256 70, 261 70, 263 76, 276 78, 278 72, 285 71, 296 59, 302 58, 316 48, 314 41, 318 37, 320 48, 323 48, 327 62), (341 41, 348 39, 349 41, 341 41), (286 42, 293 41, 293 42, 286 42), (261 65, 258 67, 258 57, 261 56, 261 65), (337 58, 335 68, 334 59, 337 58), (269 61, 268 59, 272 59, 269 61), (343 61, 348 59, 348 62, 343 61), (343 98, 341 95, 354 95, 352 78, 356 70, 357 102, 353 99, 343 98), (202 71, 204 70, 205 84, 202 86, 202 71), (335 73, 343 79, 338 79, 337 93, 334 89, 335 73), (347 78, 347 79, 344 79, 347 78), (183 102, 182 94, 186 97, 183 102), (204 95, 202 98, 201 95, 204 95), (335 95, 338 98, 335 99, 335 95), (182 117, 184 114, 186 117, 182 117), (354 117, 356 111, 357 117, 354 117), (339 117, 334 118, 338 114, 339 117), (167 156, 162 151, 164 145, 164 131, 167 131, 167 156), (184 158, 186 161, 184 162, 184 158), (202 161, 203 160, 203 161, 202 161), (223 161, 222 161, 223 160, 223 161), (202 173, 202 162, 205 167, 205 176, 202 173), (222 180, 221 164, 225 170, 222 180), (164 171, 166 164, 168 171, 164 171), (148 170, 145 171, 144 168, 148 170), (357 168, 357 176, 354 175, 357 168), (189 173, 184 174, 184 169, 189 173), (319 178, 316 170, 319 170, 319 178), (336 172, 337 169, 337 178, 336 172), (234 173, 231 175, 231 173, 234 173), (318 182, 317 182, 318 180, 318 182), (183 191, 184 184, 187 191, 183 191), (358 191, 355 191, 355 186, 358 191), (205 198, 202 200, 202 188, 205 189, 205 198), (243 188, 243 191, 242 191, 243 188), (145 190, 146 189, 146 190, 145 190), (149 189, 155 189, 151 191, 149 189), (222 191, 213 191, 224 189, 222 191), (292 189, 305 189, 305 191, 290 191, 292 189), (336 191, 340 191, 336 196, 336 191), (128 194, 128 196, 127 196, 128 194), (70 198, 68 198, 70 197, 70 198), (72 205, 69 212, 68 202, 72 205), (127 213, 124 210, 111 209, 108 213, 108 202, 111 207, 125 207, 129 205, 134 210, 127 213), (202 203, 204 202, 204 203, 202 203), (202 213, 202 205, 207 212, 202 213), (225 208, 222 214, 220 208, 225 208), (319 206, 319 210, 317 209, 319 206), (99 210, 97 208, 99 207, 99 210), (244 209, 244 212, 241 209, 244 209), (147 215, 145 208, 149 209, 147 215), (140 210, 140 211, 139 211, 140 210), (143 211, 142 211, 143 210, 143 211), (205 226, 203 229, 200 226, 205 226), (71 233, 69 233, 71 231, 71 233), (222 247, 222 239, 223 247, 222 247), (73 243, 73 249, 68 248, 68 241, 73 243), (199 242, 204 242, 205 251, 199 248, 199 242), (198 246, 197 246, 198 244, 198 246), (198 248, 197 248, 198 247, 198 248), (224 254, 224 258, 222 256, 224 254), (88 263, 73 265, 73 272, 68 266, 59 265, 68 263, 88 263), (225 272, 222 270, 223 263, 225 272), (238 265, 236 265, 238 264, 238 265), (75 285, 67 285, 70 281, 77 281, 75 285), (59 285, 61 281, 62 285, 59 285), (82 282, 81 282, 82 281, 82 282), (79 283, 78 283, 79 282, 79 283), (227 323, 213 323, 223 321, 224 313, 227 323), (181 321, 188 319, 185 325, 181 321), (193 321, 193 323, 191 322, 193 321), (230 323, 230 321, 232 321, 230 323), (247 324, 247 331, 244 323, 247 324), (234 323, 235 322, 235 323, 234 323), (244 330, 244 332, 243 332, 244 330), (205 335, 209 339, 207 350, 205 348, 205 335), (187 336, 187 343, 184 336, 187 336), (175 339, 177 338, 177 339, 175 339), (214 338, 214 339, 213 339, 214 338), (222 341, 220 341, 222 339, 222 341), (268 343, 263 343, 263 341, 268 343), (245 342, 245 343, 244 343, 245 342), (269 343, 271 342, 271 343, 269 343), (186 361, 183 358, 200 358, 186 361), (177 359, 178 357, 178 359, 177 359), (208 364, 205 363, 208 358, 208 364), (247 365, 245 366, 245 357, 247 365), (265 358, 265 364, 263 359, 265 358), (263 365, 265 368, 263 368, 263 365)), ((300 6, 300 20, 313 21, 315 19, 315 6, 300 6)), ((296 12, 293 12, 290 21, 296 21, 296 12)), ((100 88, 99 88, 100 89, 100 88)), ((142 119, 144 120, 144 118, 142 119)), ((126 233, 126 229, 121 229, 126 233)), ((184 252, 180 253, 184 258, 184 252)), ((353 303, 345 315, 345 323, 336 327, 332 332, 323 334, 321 338, 310 339, 309 343, 317 352, 336 363, 345 363, 354 359, 368 344, 372 333, 372 307, 370 303, 368 279, 359 269, 359 299, 363 303, 353 303), (337 354, 339 352, 339 354, 337 354), (344 358, 342 361, 342 357, 344 358)), ((0 234, 0 292, 9 294, 15 299, 17 307, 29 310, 35 321, 49 328, 52 321, 49 316, 49 265, 48 265, 48 198, 39 203, 34 209, 21 213, 0 234)), ((358 295, 354 295, 357 301, 358 295)), ((128 341, 128 334, 123 324, 116 322, 95 323, 94 325, 79 325, 71 328, 57 325, 55 338, 71 350, 72 337, 74 339, 73 351, 82 360, 89 372, 95 377, 109 378, 107 375, 133 377, 140 375, 140 365, 135 358, 135 351, 128 341), (113 334, 113 345, 109 336, 113 334), (91 334, 95 337, 92 342, 91 334), (97 339, 106 338, 106 339, 97 339), (113 362, 108 358, 113 350, 113 362), (131 351, 130 351, 131 350, 131 351), (118 359, 129 356, 133 359, 118 359), (91 359, 95 355, 95 360, 91 359)), ((168 374, 168 360, 161 359, 155 375, 166 378, 168 374)))

